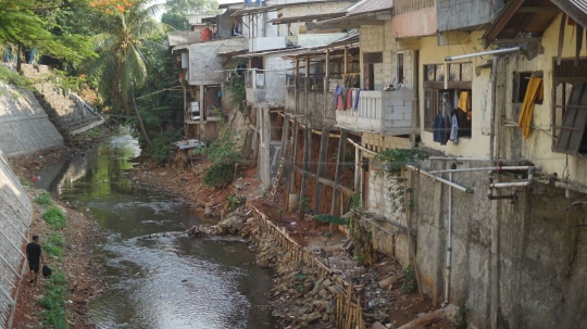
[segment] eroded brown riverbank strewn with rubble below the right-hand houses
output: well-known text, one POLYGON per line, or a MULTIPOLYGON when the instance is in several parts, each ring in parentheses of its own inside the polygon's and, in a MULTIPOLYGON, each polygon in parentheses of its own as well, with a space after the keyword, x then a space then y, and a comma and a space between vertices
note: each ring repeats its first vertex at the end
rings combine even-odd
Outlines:
MULTIPOLYGON (((452 328, 454 307, 434 312, 429 301, 407 293, 402 287, 415 279, 391 257, 380 254, 375 266, 363 268, 336 242, 302 246, 252 202, 216 225, 193 226, 186 233, 248 239, 257 264, 274 270, 267 289, 279 328, 452 328)), ((335 240, 341 238, 337 233, 335 240)))

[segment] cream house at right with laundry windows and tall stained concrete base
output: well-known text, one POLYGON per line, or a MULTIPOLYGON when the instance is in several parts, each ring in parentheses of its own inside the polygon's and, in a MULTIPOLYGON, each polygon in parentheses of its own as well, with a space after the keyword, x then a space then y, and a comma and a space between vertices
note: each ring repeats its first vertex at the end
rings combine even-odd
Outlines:
POLYGON ((398 43, 420 53, 417 147, 433 154, 410 180, 425 292, 437 304, 466 305, 475 328, 584 327, 586 292, 572 287, 587 268, 575 256, 587 250, 587 8, 394 5, 398 43), (435 126, 444 109, 458 123, 457 140, 435 126))

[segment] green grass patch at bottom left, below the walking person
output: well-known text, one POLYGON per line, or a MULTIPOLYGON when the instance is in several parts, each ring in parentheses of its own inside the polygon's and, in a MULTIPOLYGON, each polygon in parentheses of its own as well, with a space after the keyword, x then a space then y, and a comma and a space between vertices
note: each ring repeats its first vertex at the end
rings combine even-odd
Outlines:
POLYGON ((45 283, 45 295, 40 305, 45 311, 41 313, 41 321, 45 328, 68 329, 67 314, 65 312, 65 299, 67 296, 67 278, 61 271, 55 271, 45 283))

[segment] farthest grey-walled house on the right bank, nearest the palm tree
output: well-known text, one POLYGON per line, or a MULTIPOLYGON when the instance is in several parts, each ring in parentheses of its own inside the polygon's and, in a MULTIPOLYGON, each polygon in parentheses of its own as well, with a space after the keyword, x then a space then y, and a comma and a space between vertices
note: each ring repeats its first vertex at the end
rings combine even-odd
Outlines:
POLYGON ((230 17, 240 8, 242 3, 225 4, 221 5, 225 11, 220 15, 190 15, 192 30, 168 34, 168 46, 177 54, 182 68, 184 137, 187 139, 213 140, 217 137, 217 112, 228 106, 227 60, 222 54, 247 51, 247 39, 242 37, 246 27, 230 17))

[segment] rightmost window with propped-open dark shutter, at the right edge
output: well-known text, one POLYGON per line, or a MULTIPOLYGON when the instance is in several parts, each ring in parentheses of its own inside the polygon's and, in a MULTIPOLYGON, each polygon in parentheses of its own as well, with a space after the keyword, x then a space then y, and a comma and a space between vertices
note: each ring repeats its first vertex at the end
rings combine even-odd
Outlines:
POLYGON ((587 157, 587 59, 553 62, 552 151, 587 157))

